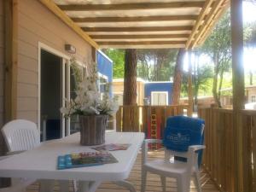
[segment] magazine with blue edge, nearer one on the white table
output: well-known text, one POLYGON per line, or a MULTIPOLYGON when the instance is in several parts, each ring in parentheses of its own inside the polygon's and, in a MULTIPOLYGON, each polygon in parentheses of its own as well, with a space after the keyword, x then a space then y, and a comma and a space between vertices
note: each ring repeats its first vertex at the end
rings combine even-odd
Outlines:
POLYGON ((84 166, 102 166, 104 164, 117 163, 113 156, 108 152, 84 152, 58 156, 57 169, 70 169, 84 166))

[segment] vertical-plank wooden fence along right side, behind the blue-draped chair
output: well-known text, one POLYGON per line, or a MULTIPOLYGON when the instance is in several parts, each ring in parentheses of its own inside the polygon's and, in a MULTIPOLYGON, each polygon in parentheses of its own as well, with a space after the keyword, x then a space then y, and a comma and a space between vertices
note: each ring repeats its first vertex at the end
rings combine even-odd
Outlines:
POLYGON ((232 109, 201 108, 198 114, 206 121, 203 165, 220 191, 240 192, 238 185, 245 192, 256 191, 256 111, 243 110, 235 115, 232 109), (239 155, 234 118, 241 119, 241 176, 236 174, 239 155))

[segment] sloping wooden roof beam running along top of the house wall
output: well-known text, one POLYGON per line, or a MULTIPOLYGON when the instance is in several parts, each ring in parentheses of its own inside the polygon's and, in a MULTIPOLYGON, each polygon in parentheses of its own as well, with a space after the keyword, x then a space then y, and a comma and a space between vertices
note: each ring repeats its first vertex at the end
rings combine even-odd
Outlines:
POLYGON ((90 38, 73 20, 71 20, 54 2, 53 0, 39 0, 44 4, 50 11, 52 11, 57 17, 59 17, 67 26, 73 29, 81 38, 88 42, 91 46, 96 49, 99 48, 98 44, 90 38))

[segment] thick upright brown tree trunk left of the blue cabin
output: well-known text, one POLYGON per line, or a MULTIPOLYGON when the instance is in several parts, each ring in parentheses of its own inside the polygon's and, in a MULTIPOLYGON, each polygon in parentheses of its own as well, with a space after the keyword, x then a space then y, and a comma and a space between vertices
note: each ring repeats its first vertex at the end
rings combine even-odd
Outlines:
POLYGON ((137 103, 137 51, 125 49, 124 105, 137 103))

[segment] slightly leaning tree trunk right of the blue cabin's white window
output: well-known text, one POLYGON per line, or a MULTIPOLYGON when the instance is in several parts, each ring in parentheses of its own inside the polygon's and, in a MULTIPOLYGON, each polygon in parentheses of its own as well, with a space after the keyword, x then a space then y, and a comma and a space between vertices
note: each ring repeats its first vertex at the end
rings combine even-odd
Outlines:
POLYGON ((180 98, 180 90, 183 79, 183 58, 185 49, 179 49, 177 52, 177 61, 174 68, 173 89, 172 89, 172 104, 178 105, 180 98))

